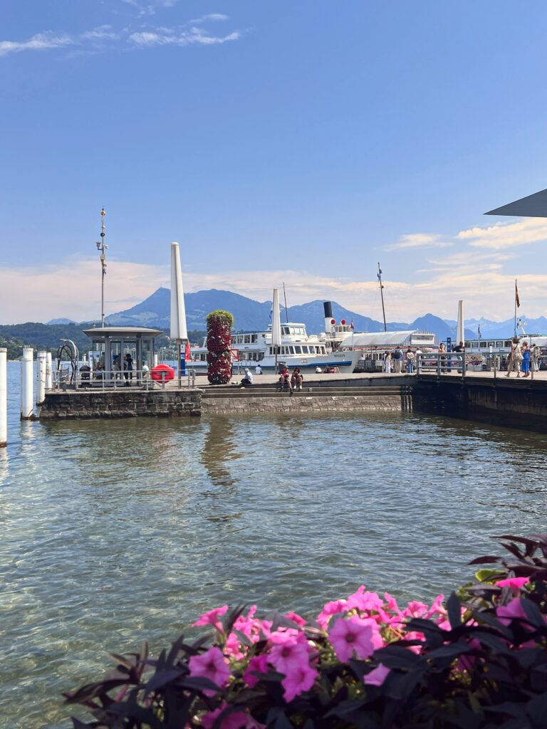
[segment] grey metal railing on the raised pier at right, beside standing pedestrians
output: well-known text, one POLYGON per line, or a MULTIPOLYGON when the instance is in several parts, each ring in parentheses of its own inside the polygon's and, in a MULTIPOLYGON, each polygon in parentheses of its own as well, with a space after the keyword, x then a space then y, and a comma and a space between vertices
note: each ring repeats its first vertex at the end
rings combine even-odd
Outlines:
MULTIPOLYGON (((540 360, 532 356, 530 358, 530 378, 534 379, 534 373, 540 360)), ((515 362, 512 371, 520 370, 520 364, 515 362)), ((498 373, 507 374, 508 358, 500 354, 473 354, 470 352, 423 352, 416 354, 416 373, 443 375, 459 375, 465 377, 470 373, 490 372, 494 378, 498 373)))

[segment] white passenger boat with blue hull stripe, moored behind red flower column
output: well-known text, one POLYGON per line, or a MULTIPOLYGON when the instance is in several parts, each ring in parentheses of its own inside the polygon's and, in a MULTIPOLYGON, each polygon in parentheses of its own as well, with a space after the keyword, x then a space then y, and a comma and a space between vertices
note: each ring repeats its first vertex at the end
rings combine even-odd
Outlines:
MULTIPOLYGON (((308 335, 306 325, 289 321, 281 325, 281 346, 279 352, 271 343, 271 329, 263 332, 249 332, 232 335, 232 360, 234 367, 249 367, 254 371, 260 364, 264 372, 272 373, 279 364, 286 364, 290 370, 315 371, 333 369, 340 373, 352 373, 361 356, 359 351, 334 351, 326 335, 308 335)), ((206 342, 201 347, 190 349, 191 359, 186 367, 196 373, 207 372, 206 342)))

